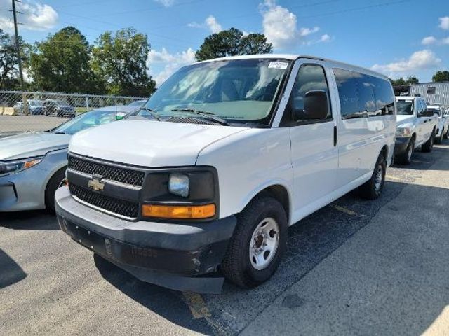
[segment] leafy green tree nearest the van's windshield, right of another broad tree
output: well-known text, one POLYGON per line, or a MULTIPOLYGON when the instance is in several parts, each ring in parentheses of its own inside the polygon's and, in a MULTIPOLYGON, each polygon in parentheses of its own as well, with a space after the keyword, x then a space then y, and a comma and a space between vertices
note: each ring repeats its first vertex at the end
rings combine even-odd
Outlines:
POLYGON ((108 94, 149 96, 156 82, 147 73, 147 35, 133 28, 102 34, 93 48, 92 67, 108 94))

